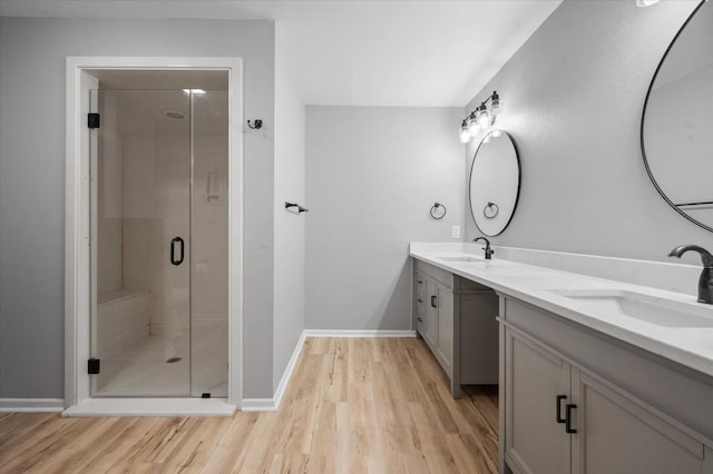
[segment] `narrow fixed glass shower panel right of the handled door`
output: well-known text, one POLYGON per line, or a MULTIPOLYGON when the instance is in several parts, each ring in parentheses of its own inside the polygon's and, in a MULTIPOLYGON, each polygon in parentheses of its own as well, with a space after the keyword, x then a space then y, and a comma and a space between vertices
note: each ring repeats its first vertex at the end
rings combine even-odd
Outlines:
POLYGON ((227 396, 227 91, 192 92, 191 392, 227 396))

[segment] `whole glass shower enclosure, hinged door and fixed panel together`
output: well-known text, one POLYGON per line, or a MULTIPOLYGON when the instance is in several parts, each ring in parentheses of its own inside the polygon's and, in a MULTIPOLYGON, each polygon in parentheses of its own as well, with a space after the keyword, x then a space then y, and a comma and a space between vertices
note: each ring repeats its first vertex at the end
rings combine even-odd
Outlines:
POLYGON ((226 397, 226 90, 91 91, 92 397, 226 397))

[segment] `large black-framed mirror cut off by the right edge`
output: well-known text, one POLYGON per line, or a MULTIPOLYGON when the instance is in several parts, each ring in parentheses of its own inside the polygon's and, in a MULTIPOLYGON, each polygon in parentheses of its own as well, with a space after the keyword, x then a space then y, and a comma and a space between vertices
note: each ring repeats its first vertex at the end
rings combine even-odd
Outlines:
POLYGON ((648 87, 642 152, 661 196, 713 231, 713 4, 701 1, 648 87))

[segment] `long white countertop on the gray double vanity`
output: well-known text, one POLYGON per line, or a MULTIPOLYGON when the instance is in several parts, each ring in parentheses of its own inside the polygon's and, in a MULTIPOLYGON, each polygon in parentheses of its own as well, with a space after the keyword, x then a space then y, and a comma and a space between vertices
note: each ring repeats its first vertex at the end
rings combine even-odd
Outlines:
POLYGON ((583 326, 658 354, 681 365, 713 376, 713 327, 670 327, 647 323, 593 307, 586 300, 568 298, 551 289, 616 289, 695 305, 713 319, 713 305, 696 303, 695 296, 597 278, 570 271, 482 258, 480 245, 411 244, 410 255, 455 275, 486 285, 498 293, 555 313, 583 326), (467 255, 481 261, 452 261, 440 257, 467 255))

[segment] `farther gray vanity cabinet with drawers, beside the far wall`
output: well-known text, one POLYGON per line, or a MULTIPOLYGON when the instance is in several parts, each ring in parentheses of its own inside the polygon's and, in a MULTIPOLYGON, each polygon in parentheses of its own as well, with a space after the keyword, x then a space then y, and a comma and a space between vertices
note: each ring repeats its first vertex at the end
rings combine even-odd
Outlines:
POLYGON ((498 383, 498 297, 492 289, 414 260, 413 317, 418 334, 450 379, 460 385, 498 383))

